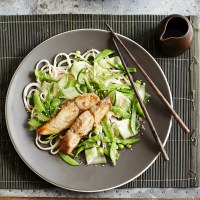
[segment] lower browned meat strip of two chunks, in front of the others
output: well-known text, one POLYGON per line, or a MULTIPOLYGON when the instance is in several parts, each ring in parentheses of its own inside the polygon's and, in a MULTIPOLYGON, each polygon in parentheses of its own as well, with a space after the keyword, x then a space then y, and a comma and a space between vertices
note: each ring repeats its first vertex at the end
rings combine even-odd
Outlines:
POLYGON ((60 151, 70 154, 78 145, 80 139, 92 130, 93 125, 93 115, 89 111, 83 112, 62 138, 60 151))

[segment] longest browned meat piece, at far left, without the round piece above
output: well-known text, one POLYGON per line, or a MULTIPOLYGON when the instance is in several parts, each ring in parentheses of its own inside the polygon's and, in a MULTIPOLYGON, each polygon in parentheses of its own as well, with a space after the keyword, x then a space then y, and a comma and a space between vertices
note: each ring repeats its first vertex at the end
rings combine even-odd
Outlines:
POLYGON ((38 128, 37 132, 41 135, 51 135, 60 133, 69 128, 79 115, 79 108, 74 101, 70 101, 63 106, 56 117, 38 128))

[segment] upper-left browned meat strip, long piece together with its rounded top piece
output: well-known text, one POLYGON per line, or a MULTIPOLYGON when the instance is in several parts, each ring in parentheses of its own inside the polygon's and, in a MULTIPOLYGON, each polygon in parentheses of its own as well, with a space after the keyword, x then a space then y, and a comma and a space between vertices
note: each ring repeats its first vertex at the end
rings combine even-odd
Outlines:
POLYGON ((66 130, 73 124, 80 111, 91 108, 99 100, 99 97, 93 93, 78 96, 75 100, 63 105, 57 116, 38 128, 37 132, 42 135, 51 135, 66 130))

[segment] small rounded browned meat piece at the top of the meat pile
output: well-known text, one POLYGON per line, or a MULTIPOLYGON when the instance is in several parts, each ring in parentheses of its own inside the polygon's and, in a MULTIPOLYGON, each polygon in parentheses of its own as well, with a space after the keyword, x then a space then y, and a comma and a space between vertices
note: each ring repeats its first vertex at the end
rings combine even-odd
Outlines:
POLYGON ((75 99, 75 103, 80 110, 88 110, 99 101, 99 97, 94 93, 82 94, 75 99))

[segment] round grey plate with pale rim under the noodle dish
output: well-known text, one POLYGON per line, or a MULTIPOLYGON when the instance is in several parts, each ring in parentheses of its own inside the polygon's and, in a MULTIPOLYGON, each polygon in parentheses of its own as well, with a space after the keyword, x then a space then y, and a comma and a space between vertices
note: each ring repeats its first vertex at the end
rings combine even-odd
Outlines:
MULTIPOLYGON (((172 103, 169 85, 158 63, 137 43, 124 36, 120 36, 120 38, 164 96, 172 103)), ((143 173, 159 155, 148 126, 133 151, 123 150, 120 152, 120 158, 114 167, 110 164, 104 167, 69 166, 59 156, 50 155, 35 146, 35 134, 28 132, 25 127, 28 115, 24 109, 22 92, 24 87, 34 80, 33 70, 36 63, 41 59, 52 61, 54 56, 60 52, 69 53, 75 50, 85 52, 91 48, 114 49, 110 34, 103 30, 84 29, 62 33, 46 40, 33 49, 22 61, 10 83, 6 99, 6 123, 9 135, 22 160, 46 181, 62 188, 82 192, 97 192, 121 186, 143 173)), ((129 59, 127 61, 130 63, 129 59)), ((139 72, 134 78, 143 79, 139 72)), ((151 94, 151 101, 148 103, 147 109, 161 141, 165 144, 171 128, 171 115, 148 84, 147 91, 151 94)))

